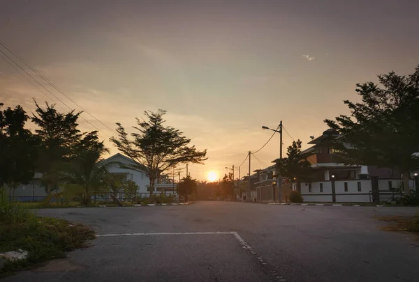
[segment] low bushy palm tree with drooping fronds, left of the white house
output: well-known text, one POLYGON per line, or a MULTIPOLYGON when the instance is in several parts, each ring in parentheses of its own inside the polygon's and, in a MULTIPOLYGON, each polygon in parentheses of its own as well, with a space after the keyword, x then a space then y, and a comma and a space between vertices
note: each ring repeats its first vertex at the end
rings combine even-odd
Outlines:
POLYGON ((61 162, 58 170, 59 180, 64 183, 64 194, 82 196, 84 205, 89 205, 95 193, 108 191, 115 184, 109 172, 115 163, 101 164, 101 156, 108 150, 97 136, 92 135, 90 142, 96 140, 96 145, 78 151, 70 162, 61 162))

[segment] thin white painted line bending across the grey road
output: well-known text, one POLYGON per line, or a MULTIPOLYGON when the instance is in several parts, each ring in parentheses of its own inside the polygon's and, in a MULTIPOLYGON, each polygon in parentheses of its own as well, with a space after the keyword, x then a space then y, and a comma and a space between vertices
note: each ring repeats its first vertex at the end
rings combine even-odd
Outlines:
MULTIPOLYGON (((156 233, 119 233, 119 234, 97 234, 96 237, 122 237, 122 236, 155 236, 155 235, 234 235, 236 240, 242 246, 243 249, 246 249, 254 256, 260 264, 266 265, 265 260, 262 257, 258 256, 256 251, 253 251, 252 247, 247 244, 246 241, 235 231, 216 231, 216 232, 156 232, 156 233)), ((275 270, 271 270, 272 274, 280 282, 286 282, 283 276, 280 276, 275 270)))

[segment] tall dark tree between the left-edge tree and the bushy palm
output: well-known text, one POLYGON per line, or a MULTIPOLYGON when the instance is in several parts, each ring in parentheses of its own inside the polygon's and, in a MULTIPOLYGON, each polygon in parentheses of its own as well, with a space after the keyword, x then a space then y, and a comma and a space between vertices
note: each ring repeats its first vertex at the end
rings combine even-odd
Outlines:
POLYGON ((38 125, 36 134, 42 142, 38 169, 43 173, 42 182, 49 201, 52 190, 58 188, 60 163, 70 162, 82 138, 77 122, 81 112, 60 113, 54 104, 45 103, 45 109, 35 104, 31 119, 38 125))

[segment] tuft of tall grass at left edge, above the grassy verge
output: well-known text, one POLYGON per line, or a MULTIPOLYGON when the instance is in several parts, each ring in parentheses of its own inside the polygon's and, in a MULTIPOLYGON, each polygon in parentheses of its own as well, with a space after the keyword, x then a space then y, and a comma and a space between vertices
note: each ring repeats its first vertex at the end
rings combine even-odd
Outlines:
POLYGON ((34 219, 35 215, 31 210, 18 203, 10 203, 4 191, 0 191, 0 223, 1 224, 22 224, 34 219))

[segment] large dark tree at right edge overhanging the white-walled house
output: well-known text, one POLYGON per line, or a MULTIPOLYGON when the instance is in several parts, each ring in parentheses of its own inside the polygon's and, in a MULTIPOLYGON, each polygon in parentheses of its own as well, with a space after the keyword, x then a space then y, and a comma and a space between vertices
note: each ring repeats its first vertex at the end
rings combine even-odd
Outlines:
POLYGON ((345 100, 351 116, 325 120, 341 134, 333 146, 344 164, 378 165, 402 173, 410 194, 409 174, 419 168, 419 66, 408 76, 378 75, 379 84, 357 84, 361 102, 345 100))

